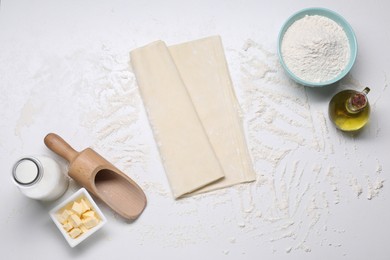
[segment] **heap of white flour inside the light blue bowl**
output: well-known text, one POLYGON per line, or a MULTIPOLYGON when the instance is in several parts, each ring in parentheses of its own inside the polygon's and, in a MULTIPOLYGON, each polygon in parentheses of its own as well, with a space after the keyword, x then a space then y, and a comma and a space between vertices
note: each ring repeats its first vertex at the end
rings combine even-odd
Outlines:
POLYGON ((290 71, 313 83, 339 75, 351 53, 343 28, 320 15, 306 15, 295 21, 283 36, 281 51, 290 71))

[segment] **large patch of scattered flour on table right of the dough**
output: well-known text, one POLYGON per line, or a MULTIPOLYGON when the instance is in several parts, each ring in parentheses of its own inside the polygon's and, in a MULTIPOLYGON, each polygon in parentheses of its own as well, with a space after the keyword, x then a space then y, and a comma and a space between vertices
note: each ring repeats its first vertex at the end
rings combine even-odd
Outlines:
MULTIPOLYGON (((333 128, 326 108, 310 106, 305 87, 284 74, 276 53, 248 40, 237 55, 242 73, 237 86, 242 91, 248 145, 255 170, 261 175, 261 182, 255 183, 250 198, 246 197, 253 208, 243 211, 244 221, 237 224, 273 243, 275 250, 311 252, 310 237, 327 240, 324 227, 332 208, 346 203, 351 195, 359 198, 367 192, 367 198, 372 199, 380 194, 384 183, 380 164, 369 162, 373 173, 366 176, 348 173, 338 158, 356 167, 354 172, 368 164, 356 158, 357 141, 353 149, 340 149, 347 147, 348 139, 331 137, 333 128), (256 214, 263 223, 251 230, 256 214)), ((340 86, 353 81, 348 77, 340 86)))

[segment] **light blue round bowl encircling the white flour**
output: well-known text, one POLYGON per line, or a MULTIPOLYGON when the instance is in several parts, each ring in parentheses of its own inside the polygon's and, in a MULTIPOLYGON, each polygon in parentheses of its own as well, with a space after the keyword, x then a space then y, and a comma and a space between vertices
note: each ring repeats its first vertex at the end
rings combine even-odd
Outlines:
POLYGON ((324 9, 324 8, 307 8, 307 9, 303 9, 303 10, 293 14, 292 16, 290 16, 290 18, 288 18, 287 21, 283 24, 282 29, 279 32, 279 39, 278 39, 278 56, 279 56, 279 61, 280 61, 281 65, 283 66, 284 70, 286 71, 286 73, 294 81, 296 81, 296 82, 298 82, 298 83, 300 83, 302 85, 305 85, 305 86, 323 87, 323 86, 327 86, 327 85, 330 85, 330 84, 333 84, 333 83, 339 81, 345 75, 347 75, 347 73, 351 70, 353 64, 355 63, 356 55, 357 55, 357 41, 356 41, 355 33, 352 30, 352 27, 349 25, 349 23, 342 16, 340 16, 339 14, 337 14, 337 13, 331 11, 331 10, 328 10, 328 9, 324 9), (282 55, 281 48, 282 48, 282 40, 283 40, 284 34, 286 33, 287 29, 295 21, 302 19, 306 15, 320 15, 320 16, 325 16, 325 17, 327 17, 329 19, 332 19, 333 21, 335 21, 337 24, 339 24, 344 29, 344 32, 346 33, 346 35, 348 37, 349 46, 350 46, 350 50, 351 50, 351 55, 350 55, 350 58, 349 58, 349 62, 347 64, 347 66, 344 68, 343 71, 341 71, 335 78, 333 78, 333 79, 331 79, 329 81, 319 82, 318 83, 318 82, 309 82, 309 81, 303 80, 303 79, 299 78, 298 76, 296 76, 287 67, 287 65, 285 64, 285 62, 283 60, 283 55, 282 55))

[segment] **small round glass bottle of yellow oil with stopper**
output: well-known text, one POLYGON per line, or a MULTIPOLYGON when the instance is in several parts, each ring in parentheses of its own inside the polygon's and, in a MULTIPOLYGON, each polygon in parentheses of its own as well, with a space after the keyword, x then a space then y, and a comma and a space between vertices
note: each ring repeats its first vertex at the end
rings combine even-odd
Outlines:
POLYGON ((367 87, 362 92, 343 90, 333 96, 329 103, 329 117, 337 128, 356 131, 362 128, 370 116, 367 87))

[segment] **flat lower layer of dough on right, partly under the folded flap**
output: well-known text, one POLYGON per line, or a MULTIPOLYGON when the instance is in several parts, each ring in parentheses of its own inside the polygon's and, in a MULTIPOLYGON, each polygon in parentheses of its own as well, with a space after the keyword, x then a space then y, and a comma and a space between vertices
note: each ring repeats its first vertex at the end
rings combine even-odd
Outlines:
POLYGON ((168 48, 225 174, 223 180, 197 192, 254 181, 256 174, 220 37, 168 48))

